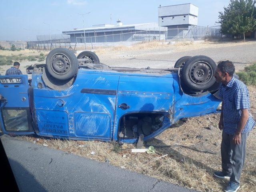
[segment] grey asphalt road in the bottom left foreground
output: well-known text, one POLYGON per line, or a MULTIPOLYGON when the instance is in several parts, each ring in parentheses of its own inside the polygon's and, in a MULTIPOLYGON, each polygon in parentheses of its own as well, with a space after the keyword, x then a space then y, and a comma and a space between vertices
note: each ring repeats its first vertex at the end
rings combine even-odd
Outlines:
POLYGON ((1 136, 22 192, 192 192, 175 184, 19 138, 1 136))

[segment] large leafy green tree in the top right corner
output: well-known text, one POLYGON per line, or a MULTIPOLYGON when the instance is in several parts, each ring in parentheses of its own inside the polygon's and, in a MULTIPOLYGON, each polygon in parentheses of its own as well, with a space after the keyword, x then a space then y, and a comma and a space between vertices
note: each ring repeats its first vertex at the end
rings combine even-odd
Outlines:
POLYGON ((241 35, 256 30, 255 0, 230 0, 224 12, 219 12, 223 34, 241 35))

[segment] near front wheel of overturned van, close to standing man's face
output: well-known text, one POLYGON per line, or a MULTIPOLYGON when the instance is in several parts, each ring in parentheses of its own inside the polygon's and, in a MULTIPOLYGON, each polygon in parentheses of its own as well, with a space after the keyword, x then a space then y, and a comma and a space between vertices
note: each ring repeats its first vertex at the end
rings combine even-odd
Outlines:
POLYGON ((216 81, 216 68, 216 63, 210 57, 194 56, 183 65, 180 78, 189 89, 207 90, 216 81))

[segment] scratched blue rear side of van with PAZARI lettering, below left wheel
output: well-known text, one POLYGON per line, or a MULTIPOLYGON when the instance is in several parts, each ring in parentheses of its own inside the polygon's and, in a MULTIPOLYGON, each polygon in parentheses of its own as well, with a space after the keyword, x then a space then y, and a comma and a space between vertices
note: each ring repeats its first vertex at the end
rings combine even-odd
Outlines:
POLYGON ((111 140, 119 76, 94 73, 80 70, 74 84, 66 90, 34 85, 38 134, 111 140))

